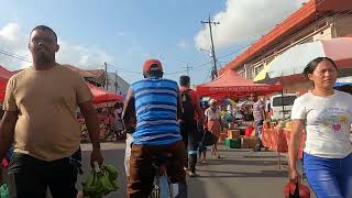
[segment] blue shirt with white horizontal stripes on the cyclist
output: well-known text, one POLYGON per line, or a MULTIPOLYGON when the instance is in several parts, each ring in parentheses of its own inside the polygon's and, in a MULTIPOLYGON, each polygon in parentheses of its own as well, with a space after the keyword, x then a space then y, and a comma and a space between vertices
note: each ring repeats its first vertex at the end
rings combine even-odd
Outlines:
POLYGON ((177 82, 148 78, 134 82, 131 88, 136 112, 133 143, 163 145, 182 140, 177 123, 177 82))

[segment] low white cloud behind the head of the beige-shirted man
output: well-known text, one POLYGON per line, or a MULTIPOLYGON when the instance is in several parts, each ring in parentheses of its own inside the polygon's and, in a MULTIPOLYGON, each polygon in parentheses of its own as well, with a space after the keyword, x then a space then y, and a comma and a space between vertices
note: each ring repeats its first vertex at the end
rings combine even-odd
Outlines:
MULTIPOLYGON (((2 28, 0 26, 0 50, 31 61, 28 42, 29 33, 23 34, 19 24, 9 23, 2 28)), ((63 40, 58 40, 58 44, 61 48, 56 54, 56 59, 62 64, 70 64, 88 69, 100 67, 103 62, 116 62, 112 55, 96 46, 73 45, 63 40)), ((0 54, 0 65, 14 70, 24 68, 29 66, 30 63, 0 54)))

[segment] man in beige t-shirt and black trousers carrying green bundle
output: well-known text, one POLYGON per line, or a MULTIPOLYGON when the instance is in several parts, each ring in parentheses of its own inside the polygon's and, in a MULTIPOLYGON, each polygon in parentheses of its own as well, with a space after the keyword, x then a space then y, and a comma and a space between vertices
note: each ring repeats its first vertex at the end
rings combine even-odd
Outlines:
POLYGON ((0 123, 0 158, 14 147, 10 196, 44 198, 48 187, 54 198, 74 198, 77 168, 72 158, 80 154, 77 107, 92 142, 90 163, 103 161, 92 95, 78 73, 55 62, 59 46, 52 29, 34 28, 29 48, 33 66, 9 79, 0 123))

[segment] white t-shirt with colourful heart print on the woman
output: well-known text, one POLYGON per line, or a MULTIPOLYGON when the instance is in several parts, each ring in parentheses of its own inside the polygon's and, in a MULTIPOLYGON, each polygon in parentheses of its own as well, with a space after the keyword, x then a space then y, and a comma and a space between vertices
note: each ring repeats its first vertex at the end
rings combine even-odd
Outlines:
POLYGON ((329 97, 307 92, 295 100, 293 120, 305 120, 305 152, 326 158, 343 158, 352 152, 350 130, 352 96, 334 90, 329 97))

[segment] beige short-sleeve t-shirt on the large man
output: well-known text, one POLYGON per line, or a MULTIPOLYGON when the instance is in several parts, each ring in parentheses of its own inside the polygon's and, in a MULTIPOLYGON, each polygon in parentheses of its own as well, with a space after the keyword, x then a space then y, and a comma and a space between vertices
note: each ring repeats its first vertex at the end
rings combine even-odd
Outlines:
POLYGON ((70 156, 80 143, 76 109, 91 99, 84 78, 64 65, 12 76, 3 110, 18 111, 14 152, 47 162, 70 156))

